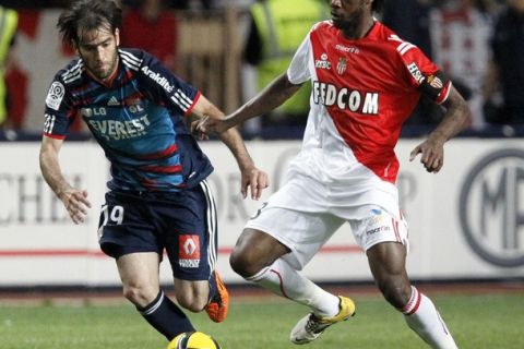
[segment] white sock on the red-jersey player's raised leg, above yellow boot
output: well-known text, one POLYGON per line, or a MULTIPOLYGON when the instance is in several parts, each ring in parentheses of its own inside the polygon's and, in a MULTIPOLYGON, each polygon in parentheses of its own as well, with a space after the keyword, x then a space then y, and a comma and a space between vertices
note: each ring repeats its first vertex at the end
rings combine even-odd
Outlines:
POLYGON ((331 317, 340 312, 338 297, 305 278, 282 258, 246 280, 257 282, 275 294, 308 305, 318 316, 331 317))

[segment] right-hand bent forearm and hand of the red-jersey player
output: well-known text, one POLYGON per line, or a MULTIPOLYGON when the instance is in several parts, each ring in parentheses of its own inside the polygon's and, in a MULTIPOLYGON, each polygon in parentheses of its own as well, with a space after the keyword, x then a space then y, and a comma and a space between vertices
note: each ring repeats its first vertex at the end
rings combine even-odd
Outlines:
POLYGON ((409 156, 413 161, 420 154, 420 163, 428 172, 437 173, 444 165, 444 143, 461 132, 471 120, 467 103, 461 94, 451 87, 450 96, 443 104, 446 108, 442 121, 426 141, 417 145, 409 156))

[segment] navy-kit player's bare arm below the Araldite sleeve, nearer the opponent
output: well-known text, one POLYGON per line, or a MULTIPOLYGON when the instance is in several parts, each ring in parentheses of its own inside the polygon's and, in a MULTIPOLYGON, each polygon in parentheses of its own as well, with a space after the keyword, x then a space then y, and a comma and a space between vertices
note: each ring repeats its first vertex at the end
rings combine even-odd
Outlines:
MULTIPOLYGON (((196 101, 196 105, 192 109, 191 117, 196 119, 191 123, 191 129, 193 133, 196 134, 199 134, 199 131, 195 131, 193 125, 198 124, 199 122, 202 123, 209 121, 218 125, 224 120, 224 113, 204 96, 201 96, 196 101)), ((237 160, 238 167, 240 168, 240 192, 242 193, 242 197, 247 197, 248 189, 250 189, 251 198, 259 200, 263 190, 270 184, 267 173, 254 166, 254 163, 251 159, 251 156, 246 148, 246 144, 243 143, 243 140, 237 129, 227 128, 218 132, 217 135, 233 153, 235 159, 237 160)))

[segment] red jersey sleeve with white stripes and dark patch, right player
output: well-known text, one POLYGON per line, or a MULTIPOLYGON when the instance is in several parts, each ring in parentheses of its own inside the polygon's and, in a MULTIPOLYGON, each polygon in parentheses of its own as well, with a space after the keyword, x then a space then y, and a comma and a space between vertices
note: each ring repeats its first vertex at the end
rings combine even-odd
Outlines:
POLYGON ((396 50, 407 70, 409 84, 437 104, 444 103, 451 89, 448 76, 418 47, 404 41, 396 50))

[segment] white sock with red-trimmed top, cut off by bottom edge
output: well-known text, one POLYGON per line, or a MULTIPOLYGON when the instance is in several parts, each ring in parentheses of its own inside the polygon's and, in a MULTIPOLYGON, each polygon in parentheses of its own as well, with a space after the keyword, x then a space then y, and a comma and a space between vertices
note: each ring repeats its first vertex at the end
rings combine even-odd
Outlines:
POLYGON ((445 326, 444 321, 434 308, 433 302, 414 286, 412 297, 401 310, 407 325, 420 336, 431 348, 456 349, 456 344, 445 326))

